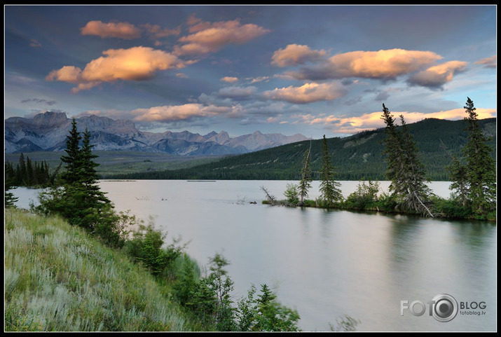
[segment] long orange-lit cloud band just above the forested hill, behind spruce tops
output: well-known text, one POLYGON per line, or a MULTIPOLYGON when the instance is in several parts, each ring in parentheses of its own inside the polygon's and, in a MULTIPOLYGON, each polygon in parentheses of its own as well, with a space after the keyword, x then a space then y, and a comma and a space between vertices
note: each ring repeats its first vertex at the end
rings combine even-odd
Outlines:
MULTIPOLYGON (((479 119, 496 117, 495 109, 479 109, 476 108, 475 112, 479 115, 479 119)), ((460 120, 465 118, 467 114, 465 109, 452 109, 447 111, 437 111, 430 114, 423 114, 421 112, 392 112, 394 116, 403 115, 406 123, 416 123, 423 121, 425 118, 439 118, 450 121, 460 120)), ((373 112, 356 117, 338 117, 334 115, 329 116, 313 116, 297 115, 296 123, 306 124, 323 124, 327 128, 333 129, 335 132, 354 134, 365 130, 372 130, 377 128, 384 128, 385 124, 381 120, 381 112, 373 112)))

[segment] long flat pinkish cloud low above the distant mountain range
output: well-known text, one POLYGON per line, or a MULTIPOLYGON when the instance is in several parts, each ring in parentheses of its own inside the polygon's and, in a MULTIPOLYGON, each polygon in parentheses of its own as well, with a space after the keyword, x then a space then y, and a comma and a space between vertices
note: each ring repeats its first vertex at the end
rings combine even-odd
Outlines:
POLYGON ((188 103, 183 105, 153 106, 149 109, 135 109, 134 121, 138 122, 175 122, 186 121, 197 117, 216 116, 231 112, 226 106, 205 106, 203 104, 188 103))

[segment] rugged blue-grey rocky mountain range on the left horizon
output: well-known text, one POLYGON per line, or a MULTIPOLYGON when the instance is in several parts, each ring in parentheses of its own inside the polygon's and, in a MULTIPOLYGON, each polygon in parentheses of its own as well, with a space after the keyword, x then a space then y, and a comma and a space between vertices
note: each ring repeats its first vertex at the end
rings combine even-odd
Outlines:
MULTIPOLYGON (((301 142, 306 136, 296 134, 263 134, 230 137, 228 132, 210 132, 199 135, 183 132, 145 132, 128 120, 114 120, 104 116, 76 118, 78 131, 91 133, 91 144, 96 151, 142 151, 169 153, 179 156, 221 156, 242 154, 275 146, 301 142)), ((71 118, 64 112, 47 111, 33 118, 11 117, 5 120, 5 153, 36 151, 63 151, 71 129, 71 118)))

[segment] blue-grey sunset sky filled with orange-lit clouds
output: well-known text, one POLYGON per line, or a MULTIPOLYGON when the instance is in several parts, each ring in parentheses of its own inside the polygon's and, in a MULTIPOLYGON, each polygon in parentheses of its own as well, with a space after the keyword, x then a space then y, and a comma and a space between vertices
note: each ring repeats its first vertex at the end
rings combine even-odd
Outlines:
POLYGON ((497 111, 497 6, 4 6, 5 118, 320 139, 497 111))

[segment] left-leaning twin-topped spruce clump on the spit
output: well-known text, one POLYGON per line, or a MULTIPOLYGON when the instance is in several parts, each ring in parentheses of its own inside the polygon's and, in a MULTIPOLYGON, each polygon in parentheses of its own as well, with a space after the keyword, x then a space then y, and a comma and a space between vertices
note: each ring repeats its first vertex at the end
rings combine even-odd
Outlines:
POLYGON ((383 104, 383 116, 386 124, 386 138, 383 140, 387 162, 387 178, 390 179, 390 191, 397 199, 397 207, 433 216, 427 206, 430 188, 425 184, 425 167, 419 159, 419 149, 406 126, 404 116, 400 116, 402 130, 397 129, 393 115, 383 104))

